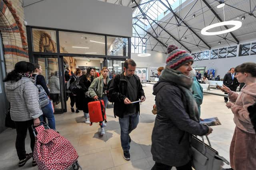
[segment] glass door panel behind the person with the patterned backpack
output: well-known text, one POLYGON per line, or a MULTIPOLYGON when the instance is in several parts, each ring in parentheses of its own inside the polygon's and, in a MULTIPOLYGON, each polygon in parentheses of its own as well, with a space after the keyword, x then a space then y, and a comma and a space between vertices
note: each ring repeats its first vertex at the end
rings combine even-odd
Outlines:
POLYGON ((42 67, 42 75, 46 80, 50 99, 54 106, 54 114, 66 111, 66 93, 64 84, 64 66, 58 56, 36 55, 35 62, 42 67))

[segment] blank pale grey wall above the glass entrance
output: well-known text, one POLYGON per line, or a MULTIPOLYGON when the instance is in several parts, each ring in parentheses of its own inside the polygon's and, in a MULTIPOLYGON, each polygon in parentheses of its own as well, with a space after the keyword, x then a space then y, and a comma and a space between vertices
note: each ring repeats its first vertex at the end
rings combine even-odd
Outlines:
POLYGON ((98 0, 44 0, 24 8, 28 25, 132 37, 132 8, 98 0))

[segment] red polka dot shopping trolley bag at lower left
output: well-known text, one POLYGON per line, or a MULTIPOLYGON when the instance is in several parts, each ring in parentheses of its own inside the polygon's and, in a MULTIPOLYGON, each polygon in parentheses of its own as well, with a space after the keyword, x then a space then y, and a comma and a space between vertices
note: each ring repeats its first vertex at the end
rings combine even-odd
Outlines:
POLYGON ((44 125, 35 129, 33 157, 39 170, 66 170, 76 162, 78 154, 70 141, 53 129, 45 129, 44 125))

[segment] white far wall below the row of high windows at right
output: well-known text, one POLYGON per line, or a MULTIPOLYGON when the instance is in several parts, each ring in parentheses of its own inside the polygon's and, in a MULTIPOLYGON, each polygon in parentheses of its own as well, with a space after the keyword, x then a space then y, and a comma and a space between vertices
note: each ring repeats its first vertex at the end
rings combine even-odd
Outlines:
POLYGON ((256 63, 256 55, 243 56, 243 57, 231 57, 227 59, 195 61, 193 66, 194 67, 206 66, 206 70, 208 68, 214 68, 215 75, 216 76, 220 75, 220 77, 223 78, 230 68, 236 67, 239 64, 242 64, 245 62, 256 63))

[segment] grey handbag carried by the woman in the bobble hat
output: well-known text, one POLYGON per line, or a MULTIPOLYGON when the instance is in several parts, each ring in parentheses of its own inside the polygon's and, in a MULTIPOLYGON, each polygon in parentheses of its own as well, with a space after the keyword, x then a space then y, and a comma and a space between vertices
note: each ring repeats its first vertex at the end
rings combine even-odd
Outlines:
POLYGON ((206 136, 208 144, 204 143, 192 135, 191 151, 192 151, 192 167, 196 170, 221 170, 225 162, 229 165, 228 160, 220 156, 216 150, 211 147, 210 141, 206 136))

